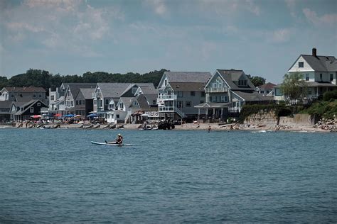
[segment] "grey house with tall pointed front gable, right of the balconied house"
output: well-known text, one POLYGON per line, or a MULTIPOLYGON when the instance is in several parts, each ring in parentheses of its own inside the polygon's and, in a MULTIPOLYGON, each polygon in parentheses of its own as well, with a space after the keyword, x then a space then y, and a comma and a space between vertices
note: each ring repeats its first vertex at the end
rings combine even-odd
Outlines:
POLYGON ((267 103, 269 98, 255 91, 245 72, 236 69, 217 69, 205 85, 206 101, 195 107, 198 118, 225 121, 229 116, 238 116, 245 104, 267 103), (205 113, 200 113, 205 109, 205 113), (201 116, 201 117, 200 117, 201 116))

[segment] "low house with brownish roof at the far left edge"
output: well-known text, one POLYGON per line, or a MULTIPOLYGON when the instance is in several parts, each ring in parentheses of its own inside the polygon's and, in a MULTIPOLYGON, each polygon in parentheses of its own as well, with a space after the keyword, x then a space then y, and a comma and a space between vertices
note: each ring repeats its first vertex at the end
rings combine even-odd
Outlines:
POLYGON ((25 101, 26 99, 39 99, 47 103, 46 90, 42 87, 4 87, 1 89, 0 101, 25 101), (25 99, 25 100, 22 100, 25 99))

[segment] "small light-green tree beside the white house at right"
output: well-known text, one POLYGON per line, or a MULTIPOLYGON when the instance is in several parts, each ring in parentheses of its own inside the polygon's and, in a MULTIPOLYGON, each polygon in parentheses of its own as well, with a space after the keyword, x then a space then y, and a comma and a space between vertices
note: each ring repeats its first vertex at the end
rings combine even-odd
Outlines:
POLYGON ((297 101, 303 101, 306 96, 307 84, 303 75, 299 72, 284 74, 281 90, 286 101, 296 103, 297 101))

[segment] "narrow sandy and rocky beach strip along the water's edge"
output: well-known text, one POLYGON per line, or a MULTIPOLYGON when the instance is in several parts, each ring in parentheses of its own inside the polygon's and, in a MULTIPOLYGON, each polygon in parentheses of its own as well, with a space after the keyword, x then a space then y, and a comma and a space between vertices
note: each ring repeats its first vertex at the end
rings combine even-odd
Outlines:
MULTIPOLYGON (((100 127, 96 128, 86 128, 82 124, 62 124, 57 129, 79 129, 79 130, 121 130, 121 129, 127 129, 127 130, 139 130, 140 124, 119 124, 117 125, 117 128, 106 128, 106 125, 100 125, 100 127), (118 128, 122 127, 122 128, 118 128)), ((46 128, 51 128, 52 124, 46 124, 46 128)), ((337 129, 334 130, 325 130, 322 128, 315 128, 312 126, 287 126, 287 125, 244 125, 244 124, 238 124, 238 123, 232 123, 232 124, 222 124, 219 125, 218 123, 184 123, 182 125, 175 125, 174 129, 171 130, 205 130, 208 131, 210 128, 210 131, 235 131, 235 130, 243 130, 243 131, 250 131, 250 132, 277 132, 277 131, 289 131, 289 132, 303 132, 303 133, 331 133, 331 132, 337 132, 337 129), (230 127, 232 125, 232 128, 230 127)), ((32 128, 26 128, 25 125, 23 127, 18 128, 17 124, 15 126, 6 124, 6 125, 0 125, 0 129, 32 129, 32 128)), ((33 129, 37 129, 34 128, 33 129)), ((54 128, 55 129, 55 128, 54 128)))

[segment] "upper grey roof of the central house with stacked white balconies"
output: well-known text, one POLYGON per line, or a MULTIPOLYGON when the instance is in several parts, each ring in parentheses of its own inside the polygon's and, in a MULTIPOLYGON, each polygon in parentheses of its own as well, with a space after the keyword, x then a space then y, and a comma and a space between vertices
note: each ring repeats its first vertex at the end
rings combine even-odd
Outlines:
POLYGON ((212 77, 210 72, 164 72, 169 82, 202 82, 212 77))

